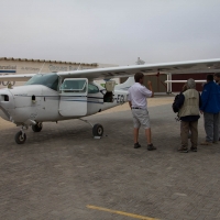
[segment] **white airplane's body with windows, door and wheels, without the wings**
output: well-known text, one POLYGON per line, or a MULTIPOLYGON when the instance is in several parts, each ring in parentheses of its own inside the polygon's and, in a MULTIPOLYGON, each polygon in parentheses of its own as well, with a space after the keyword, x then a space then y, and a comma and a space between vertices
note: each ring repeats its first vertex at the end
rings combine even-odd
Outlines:
POLYGON ((106 88, 88 78, 70 78, 58 74, 34 75, 24 86, 0 89, 0 117, 21 125, 15 142, 23 144, 24 132, 30 125, 40 132, 42 123, 80 119, 92 127, 94 136, 102 136, 101 124, 91 124, 81 118, 122 105, 128 100, 128 88, 133 84, 128 79, 114 87, 108 81, 106 88))

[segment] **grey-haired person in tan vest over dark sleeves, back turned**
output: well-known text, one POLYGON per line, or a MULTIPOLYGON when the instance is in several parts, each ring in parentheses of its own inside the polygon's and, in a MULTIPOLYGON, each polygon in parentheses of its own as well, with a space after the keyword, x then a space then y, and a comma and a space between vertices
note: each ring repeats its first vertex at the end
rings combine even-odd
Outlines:
POLYGON ((196 90, 196 82, 194 79, 188 79, 186 82, 187 90, 180 94, 177 101, 179 108, 178 116, 182 120, 182 147, 178 148, 182 153, 188 153, 188 134, 191 133, 193 152, 197 152, 198 145, 198 120, 199 107, 201 107, 200 94, 196 90))

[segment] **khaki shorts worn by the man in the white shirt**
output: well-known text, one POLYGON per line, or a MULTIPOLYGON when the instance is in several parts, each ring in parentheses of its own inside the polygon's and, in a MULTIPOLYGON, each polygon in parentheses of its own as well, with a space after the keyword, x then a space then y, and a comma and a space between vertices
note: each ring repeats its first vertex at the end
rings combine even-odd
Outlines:
POLYGON ((150 117, 146 109, 132 109, 133 114, 133 124, 135 129, 139 129, 141 125, 144 129, 150 129, 150 117))

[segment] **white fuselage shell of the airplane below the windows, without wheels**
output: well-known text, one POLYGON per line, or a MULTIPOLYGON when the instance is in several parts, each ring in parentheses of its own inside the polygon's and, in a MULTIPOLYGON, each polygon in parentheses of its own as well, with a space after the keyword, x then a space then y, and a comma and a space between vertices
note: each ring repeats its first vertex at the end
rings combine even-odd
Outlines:
POLYGON ((62 94, 42 85, 26 85, 1 89, 0 117, 18 125, 33 121, 59 121, 82 118, 127 101, 128 91, 114 91, 111 102, 105 102, 105 88, 91 82, 96 94, 62 94))

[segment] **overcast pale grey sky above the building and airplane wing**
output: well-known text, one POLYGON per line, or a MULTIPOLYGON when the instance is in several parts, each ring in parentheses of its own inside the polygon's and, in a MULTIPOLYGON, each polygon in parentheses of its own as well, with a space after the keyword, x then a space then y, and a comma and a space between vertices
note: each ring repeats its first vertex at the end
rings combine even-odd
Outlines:
POLYGON ((134 65, 220 58, 219 0, 7 0, 0 57, 134 65))

